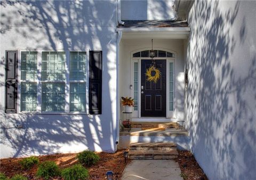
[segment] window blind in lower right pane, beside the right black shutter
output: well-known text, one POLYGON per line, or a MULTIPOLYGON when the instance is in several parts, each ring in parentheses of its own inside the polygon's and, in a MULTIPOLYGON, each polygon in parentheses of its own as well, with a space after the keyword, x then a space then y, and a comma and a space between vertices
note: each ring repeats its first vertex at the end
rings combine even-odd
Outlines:
POLYGON ((85 111, 86 83, 70 83, 69 110, 85 111))

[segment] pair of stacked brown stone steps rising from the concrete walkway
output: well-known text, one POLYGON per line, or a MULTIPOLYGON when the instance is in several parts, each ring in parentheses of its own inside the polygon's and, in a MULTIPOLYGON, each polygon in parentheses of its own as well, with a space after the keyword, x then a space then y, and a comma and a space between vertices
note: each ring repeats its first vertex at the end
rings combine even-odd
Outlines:
POLYGON ((178 157, 174 143, 132 143, 129 159, 175 159, 178 157))

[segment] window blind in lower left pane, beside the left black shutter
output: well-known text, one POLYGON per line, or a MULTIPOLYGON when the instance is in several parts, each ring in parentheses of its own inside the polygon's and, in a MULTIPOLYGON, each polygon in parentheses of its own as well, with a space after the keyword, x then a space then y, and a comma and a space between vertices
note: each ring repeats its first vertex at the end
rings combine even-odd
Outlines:
POLYGON ((36 83, 21 83, 21 111, 36 111, 37 86, 36 83))

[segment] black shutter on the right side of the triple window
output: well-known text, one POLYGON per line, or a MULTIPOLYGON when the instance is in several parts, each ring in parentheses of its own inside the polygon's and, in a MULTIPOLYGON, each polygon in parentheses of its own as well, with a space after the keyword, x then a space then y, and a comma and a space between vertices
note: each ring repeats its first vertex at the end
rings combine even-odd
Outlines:
POLYGON ((90 51, 89 67, 89 113, 101 114, 102 51, 90 51))

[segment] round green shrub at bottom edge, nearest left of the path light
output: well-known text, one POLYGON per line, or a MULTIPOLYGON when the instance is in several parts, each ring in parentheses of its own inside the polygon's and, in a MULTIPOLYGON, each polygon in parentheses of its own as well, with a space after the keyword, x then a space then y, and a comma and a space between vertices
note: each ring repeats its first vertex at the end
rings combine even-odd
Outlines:
POLYGON ((63 169, 61 171, 61 176, 65 180, 87 179, 89 177, 89 171, 82 165, 78 164, 63 169))

